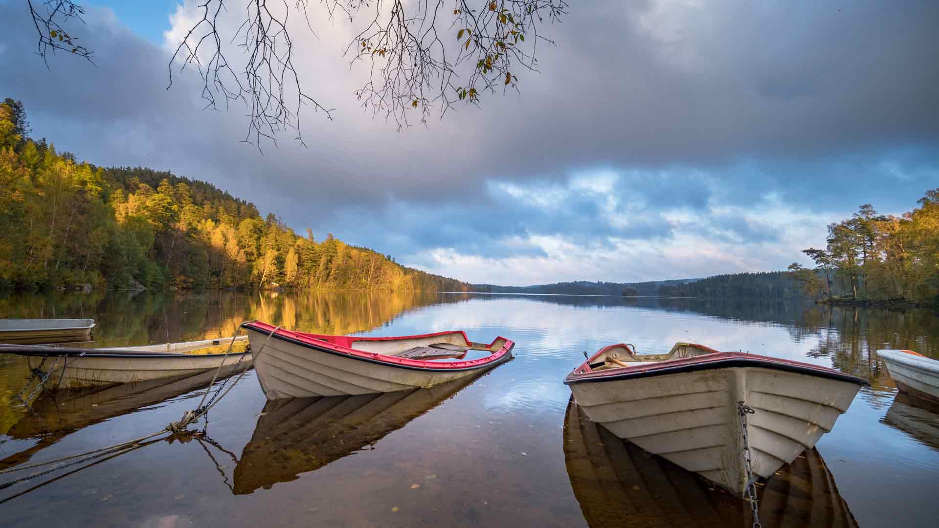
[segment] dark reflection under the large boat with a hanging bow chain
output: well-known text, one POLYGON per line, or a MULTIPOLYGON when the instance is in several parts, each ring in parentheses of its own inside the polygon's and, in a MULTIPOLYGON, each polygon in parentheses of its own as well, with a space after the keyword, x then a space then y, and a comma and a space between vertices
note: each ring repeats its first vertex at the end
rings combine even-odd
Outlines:
MULTIPOLYGON (((584 518, 606 526, 749 526, 749 503, 665 458, 623 442, 573 399, 564 418, 567 475, 584 518)), ((814 448, 759 490, 762 526, 857 526, 814 448)))

